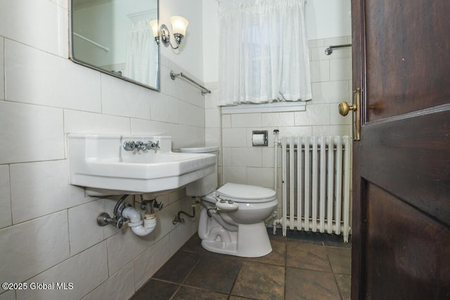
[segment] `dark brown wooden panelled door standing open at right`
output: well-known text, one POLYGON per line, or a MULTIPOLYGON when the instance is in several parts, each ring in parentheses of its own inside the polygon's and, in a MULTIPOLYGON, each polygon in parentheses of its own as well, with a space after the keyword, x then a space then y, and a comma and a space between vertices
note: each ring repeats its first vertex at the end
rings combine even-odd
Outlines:
POLYGON ((352 299, 450 299, 450 1, 354 0, 352 34, 352 299))

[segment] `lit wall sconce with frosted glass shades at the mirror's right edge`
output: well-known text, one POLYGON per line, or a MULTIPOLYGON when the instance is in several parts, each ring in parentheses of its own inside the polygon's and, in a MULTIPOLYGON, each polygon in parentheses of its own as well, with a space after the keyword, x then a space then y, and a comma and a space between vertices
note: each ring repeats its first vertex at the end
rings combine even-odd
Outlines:
POLYGON ((156 44, 158 45, 162 41, 162 44, 164 44, 164 46, 168 47, 170 45, 172 49, 178 49, 181 44, 181 40, 186 35, 186 27, 188 27, 189 22, 185 18, 179 16, 174 16, 169 20, 172 23, 172 30, 174 31, 176 47, 174 47, 170 42, 169 28, 167 28, 165 24, 162 24, 160 27, 158 27, 158 20, 150 21, 150 27, 152 27, 153 37, 155 37, 156 44))

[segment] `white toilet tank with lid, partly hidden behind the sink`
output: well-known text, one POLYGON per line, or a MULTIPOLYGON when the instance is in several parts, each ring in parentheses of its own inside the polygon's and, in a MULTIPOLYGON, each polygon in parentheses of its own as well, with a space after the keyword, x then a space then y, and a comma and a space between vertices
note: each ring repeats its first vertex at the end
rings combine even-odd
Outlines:
POLYGON ((214 173, 186 185, 186 195, 188 196, 202 197, 212 193, 217 188, 217 160, 219 159, 219 147, 181 148, 180 151, 184 153, 209 153, 216 155, 216 167, 214 167, 214 173))

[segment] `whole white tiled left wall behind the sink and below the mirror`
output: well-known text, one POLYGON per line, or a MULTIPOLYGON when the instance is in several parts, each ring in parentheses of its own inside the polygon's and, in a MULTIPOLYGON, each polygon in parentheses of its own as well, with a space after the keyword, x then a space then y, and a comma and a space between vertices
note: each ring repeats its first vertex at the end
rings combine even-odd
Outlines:
POLYGON ((116 200, 69 184, 66 133, 164 134, 174 149, 204 145, 205 97, 167 79, 186 70, 164 56, 161 92, 72 63, 68 3, 0 0, 0 281, 74 288, 0 289, 1 300, 129 299, 196 231, 196 221, 172 224, 177 211, 190 211, 184 190, 160 197, 157 229, 138 237, 96 224, 116 200))

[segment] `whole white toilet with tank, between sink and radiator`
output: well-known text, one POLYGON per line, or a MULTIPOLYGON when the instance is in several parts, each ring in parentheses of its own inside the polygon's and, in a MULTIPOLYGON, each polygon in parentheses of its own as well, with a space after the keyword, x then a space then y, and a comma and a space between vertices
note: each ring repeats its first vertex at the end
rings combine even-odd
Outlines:
MULTIPOLYGON (((218 154, 218 147, 181 148, 181 152, 218 154)), ((217 189, 216 172, 189 183, 186 195, 201 197, 198 235, 210 252, 243 257, 269 254, 272 247, 264 219, 278 201, 274 190, 255 185, 226 183, 217 189)))

